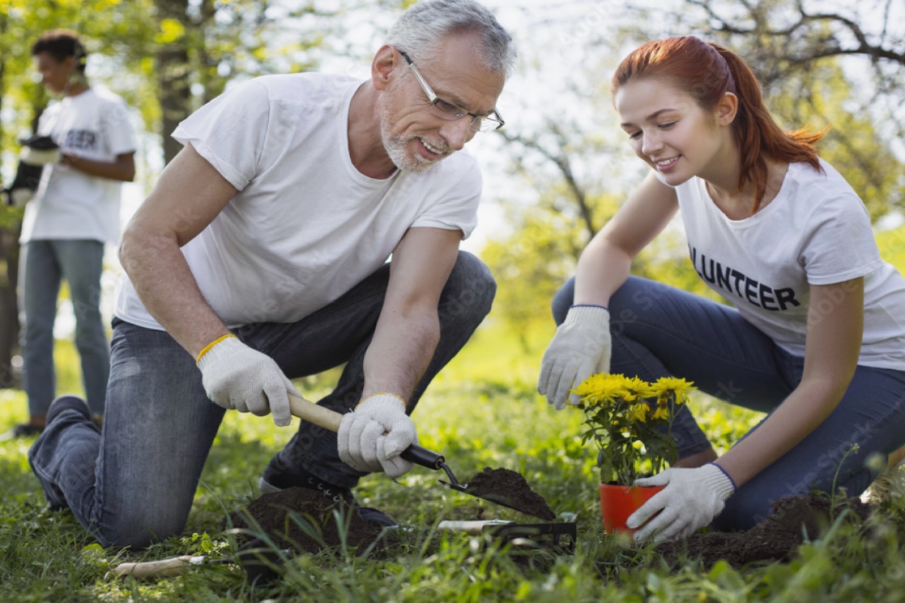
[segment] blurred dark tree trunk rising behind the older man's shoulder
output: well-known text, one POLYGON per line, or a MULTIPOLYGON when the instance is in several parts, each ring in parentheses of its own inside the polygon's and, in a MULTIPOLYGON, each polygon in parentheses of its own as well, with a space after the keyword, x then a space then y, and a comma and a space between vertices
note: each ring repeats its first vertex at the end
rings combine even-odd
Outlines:
MULTIPOLYGON (((186 15, 188 0, 155 0, 161 20, 173 19, 188 30, 191 24, 186 15)), ((187 35, 176 42, 164 44, 157 51, 157 84, 160 112, 163 116, 164 161, 168 164, 182 148, 172 137, 179 122, 191 113, 191 68, 188 60, 187 35)))

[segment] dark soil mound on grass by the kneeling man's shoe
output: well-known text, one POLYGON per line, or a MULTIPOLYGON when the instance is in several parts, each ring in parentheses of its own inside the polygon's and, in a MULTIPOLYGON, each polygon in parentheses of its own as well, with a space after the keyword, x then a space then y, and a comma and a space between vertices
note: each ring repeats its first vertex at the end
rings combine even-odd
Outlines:
MULTIPOLYGON (((334 510, 343 517, 349 547, 366 548, 375 542, 381 528, 368 523, 352 505, 345 501, 334 502, 317 490, 310 488, 288 488, 270 495, 262 495, 247 507, 247 513, 232 513, 233 526, 253 532, 267 532, 273 542, 281 548, 299 552, 316 553, 326 547, 337 547, 342 542, 334 510), (252 518, 252 522, 248 518, 252 518), (302 529, 303 523, 312 537, 302 529)), ((249 539, 252 536, 248 536, 249 539)))

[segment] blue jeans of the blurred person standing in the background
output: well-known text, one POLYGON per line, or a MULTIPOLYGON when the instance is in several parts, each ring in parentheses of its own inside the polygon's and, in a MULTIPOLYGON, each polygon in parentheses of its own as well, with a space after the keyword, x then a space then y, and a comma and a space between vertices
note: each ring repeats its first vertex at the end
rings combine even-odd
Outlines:
POLYGON ((104 245, 98 240, 31 240, 22 246, 23 380, 32 415, 47 414, 56 391, 53 323, 62 279, 75 312, 75 345, 91 413, 104 412, 110 351, 100 318, 104 245))

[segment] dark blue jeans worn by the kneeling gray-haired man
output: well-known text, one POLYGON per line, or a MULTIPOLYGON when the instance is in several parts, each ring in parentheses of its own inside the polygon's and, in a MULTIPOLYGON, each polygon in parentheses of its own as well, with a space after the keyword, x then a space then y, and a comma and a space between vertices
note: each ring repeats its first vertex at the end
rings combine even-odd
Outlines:
MULTIPOLYGON (((292 379, 348 362, 321 403, 351 410, 388 276, 385 266, 297 323, 247 325, 235 333, 292 379)), ((409 411, 490 311, 495 291, 490 271, 460 252, 440 299, 440 343, 409 411)), ((29 461, 48 502, 68 506, 101 544, 145 546, 185 526, 224 409, 207 399, 195 359, 167 332, 114 323, 102 435, 75 410, 64 410, 34 443, 29 461)), ((365 475, 339 460, 336 434, 307 422, 281 455, 334 485, 356 485, 365 475)), ((262 470, 247 467, 250 482, 262 470)))

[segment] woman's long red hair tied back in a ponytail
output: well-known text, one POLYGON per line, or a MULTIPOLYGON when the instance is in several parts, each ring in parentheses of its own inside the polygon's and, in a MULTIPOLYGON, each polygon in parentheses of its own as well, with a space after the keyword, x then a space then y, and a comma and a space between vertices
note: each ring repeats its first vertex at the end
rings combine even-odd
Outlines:
POLYGON ((738 190, 748 182, 754 184, 751 213, 757 212, 767 187, 767 157, 785 163, 803 162, 823 171, 814 143, 828 127, 820 132, 809 132, 806 127, 794 131, 779 127, 764 105, 754 72, 728 48, 694 36, 647 42, 616 69, 613 94, 628 81, 643 78, 672 80, 705 110, 716 108, 727 92, 738 98, 732 122, 741 155, 738 190))

